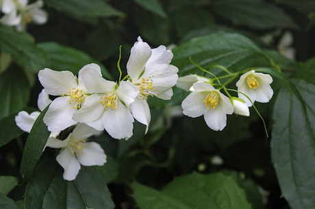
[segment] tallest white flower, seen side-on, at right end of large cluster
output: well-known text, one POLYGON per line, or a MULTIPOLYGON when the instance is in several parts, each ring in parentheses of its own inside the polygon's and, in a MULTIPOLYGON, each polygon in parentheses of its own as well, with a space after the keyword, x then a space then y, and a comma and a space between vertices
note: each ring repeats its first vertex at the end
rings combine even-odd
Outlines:
POLYGON ((130 81, 139 90, 138 97, 131 103, 134 118, 147 126, 151 121, 151 113, 147 97, 155 96, 160 99, 171 99, 172 87, 178 79, 178 69, 170 64, 173 53, 161 45, 155 49, 143 42, 140 36, 131 48, 127 62, 127 73, 130 81))

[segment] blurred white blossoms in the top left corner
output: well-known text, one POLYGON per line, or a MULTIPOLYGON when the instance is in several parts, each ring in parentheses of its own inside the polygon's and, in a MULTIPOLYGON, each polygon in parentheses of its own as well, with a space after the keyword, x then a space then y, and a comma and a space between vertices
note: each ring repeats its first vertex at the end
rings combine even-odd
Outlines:
POLYGON ((42 25, 48 14, 42 10, 43 1, 28 4, 28 0, 0 0, 0 23, 24 31, 29 23, 42 25))

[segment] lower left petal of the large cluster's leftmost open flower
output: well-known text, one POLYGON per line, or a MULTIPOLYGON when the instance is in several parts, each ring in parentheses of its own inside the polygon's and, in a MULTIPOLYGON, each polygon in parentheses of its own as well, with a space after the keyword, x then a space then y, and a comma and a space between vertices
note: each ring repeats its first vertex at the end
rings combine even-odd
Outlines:
POLYGON ((68 97, 58 97, 51 102, 45 116, 44 123, 50 132, 60 132, 77 122, 73 121, 73 106, 66 101, 68 97))

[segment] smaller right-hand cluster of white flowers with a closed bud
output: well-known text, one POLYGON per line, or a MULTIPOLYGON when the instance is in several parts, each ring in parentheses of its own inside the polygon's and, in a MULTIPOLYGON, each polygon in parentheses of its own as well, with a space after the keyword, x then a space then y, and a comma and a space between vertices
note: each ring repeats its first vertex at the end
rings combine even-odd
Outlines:
POLYGON ((227 114, 249 116, 249 107, 255 101, 268 102, 273 97, 272 82, 268 74, 248 71, 236 82, 238 97, 232 97, 220 82, 213 84, 212 79, 199 75, 179 77, 177 87, 191 92, 181 103, 183 113, 192 118, 203 115, 207 126, 218 131, 227 125, 227 114), (220 92, 222 88, 227 95, 220 92))

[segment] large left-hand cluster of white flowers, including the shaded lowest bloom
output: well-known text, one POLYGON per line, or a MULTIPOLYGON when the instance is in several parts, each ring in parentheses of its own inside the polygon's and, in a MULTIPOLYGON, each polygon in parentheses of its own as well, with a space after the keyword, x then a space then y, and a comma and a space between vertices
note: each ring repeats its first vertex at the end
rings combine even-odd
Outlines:
MULTIPOLYGON (((151 113, 148 97, 171 99, 178 69, 170 64, 173 53, 166 47, 151 49, 140 37, 131 48, 127 76, 113 82, 103 78, 97 64, 86 64, 76 77, 70 71, 43 69, 38 73, 44 87, 38 97, 40 111, 49 106, 44 123, 51 132, 45 147, 62 148, 56 160, 64 169, 64 179, 74 180, 84 166, 106 162, 103 149, 87 138, 105 130, 112 138, 130 138, 134 119, 149 129, 151 113), (55 99, 51 101, 49 95, 55 99), (58 135, 76 125, 65 140, 58 135)), ((120 70, 121 71, 121 70, 120 70)), ((40 112, 19 112, 16 125, 30 132, 40 112)))

